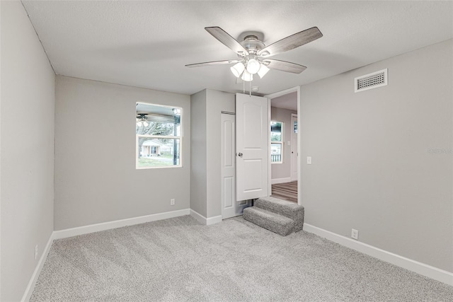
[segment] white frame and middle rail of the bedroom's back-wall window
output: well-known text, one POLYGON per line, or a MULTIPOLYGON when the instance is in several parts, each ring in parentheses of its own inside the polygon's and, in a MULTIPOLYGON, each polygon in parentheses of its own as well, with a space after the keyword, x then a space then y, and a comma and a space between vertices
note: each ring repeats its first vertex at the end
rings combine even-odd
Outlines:
MULTIPOLYGON (((136 170, 143 170, 143 169, 168 169, 168 168, 182 168, 183 167, 183 108, 180 106, 168 106, 168 105, 161 105, 156 103, 145 103, 145 102, 137 102, 137 104, 143 105, 152 105, 152 106, 159 106, 159 107, 166 107, 166 108, 178 108, 180 109, 180 135, 179 136, 170 136, 170 135, 149 135, 149 134, 137 134, 135 133, 135 169, 136 170), (150 139, 178 139, 179 140, 179 165, 162 165, 162 166, 148 166, 148 167, 139 167, 139 137, 148 137, 150 139)), ((135 116, 137 116, 137 110, 135 110, 135 116)))

